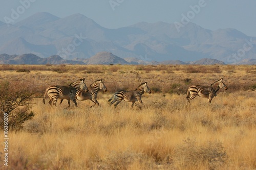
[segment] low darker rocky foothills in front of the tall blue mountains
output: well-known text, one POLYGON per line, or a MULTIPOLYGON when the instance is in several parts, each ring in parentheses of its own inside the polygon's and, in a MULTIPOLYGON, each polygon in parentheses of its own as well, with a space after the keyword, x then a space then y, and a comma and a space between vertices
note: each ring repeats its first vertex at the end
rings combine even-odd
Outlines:
POLYGON ((100 52, 95 56, 92 56, 89 59, 75 59, 75 60, 66 60, 61 58, 58 55, 53 55, 47 58, 41 58, 34 54, 23 54, 23 55, 0 55, 0 64, 33 64, 33 65, 42 65, 42 64, 79 64, 79 65, 110 65, 110 64, 122 64, 122 65, 138 65, 138 64, 200 64, 200 65, 210 65, 210 64, 225 64, 222 61, 216 59, 201 59, 193 62, 183 62, 180 60, 168 60, 163 62, 157 61, 143 61, 138 60, 137 58, 126 58, 122 59, 116 55, 113 55, 110 52, 100 52))

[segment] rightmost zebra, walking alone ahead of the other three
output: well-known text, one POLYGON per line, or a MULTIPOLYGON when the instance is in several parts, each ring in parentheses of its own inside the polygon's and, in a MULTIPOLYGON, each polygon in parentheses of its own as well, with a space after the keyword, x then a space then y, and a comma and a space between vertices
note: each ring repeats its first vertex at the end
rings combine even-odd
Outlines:
POLYGON ((190 101, 196 98, 196 96, 208 98, 208 103, 211 103, 212 98, 214 98, 214 96, 217 96, 217 91, 219 91, 220 88, 224 88, 225 90, 227 90, 227 86, 222 82, 222 79, 223 78, 212 83, 210 86, 190 86, 187 90, 186 106, 188 105, 188 103, 190 104, 190 101))

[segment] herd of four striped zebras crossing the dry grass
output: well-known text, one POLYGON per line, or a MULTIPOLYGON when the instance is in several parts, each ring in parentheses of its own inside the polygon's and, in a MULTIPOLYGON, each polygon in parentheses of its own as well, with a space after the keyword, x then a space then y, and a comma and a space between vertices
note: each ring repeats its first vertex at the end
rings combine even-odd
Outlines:
MULTIPOLYGON (((84 100, 91 100, 95 106, 96 104, 99 106, 97 101, 97 94, 99 90, 108 91, 105 87, 102 79, 95 81, 89 87, 86 86, 84 82, 85 78, 79 79, 69 86, 61 86, 61 85, 52 85, 46 89, 44 99, 42 100, 45 104, 46 94, 49 96, 50 101, 49 104, 56 106, 56 102, 60 99, 60 104, 62 103, 63 99, 67 99, 68 107, 70 107, 70 100, 73 102, 74 106, 77 107, 76 100, 84 101, 84 100)), ((201 85, 194 85, 190 86, 187 90, 187 101, 186 106, 190 104, 190 100, 196 98, 196 96, 200 96, 202 98, 207 98, 208 103, 211 103, 212 98, 217 96, 217 91, 223 88, 227 90, 227 86, 222 81, 223 78, 220 80, 212 83, 210 86, 201 86, 201 85)), ((113 94, 113 96, 108 100, 110 102, 110 106, 113 105, 115 102, 114 107, 116 108, 117 105, 121 101, 132 102, 131 108, 133 108, 136 101, 140 103, 140 105, 144 106, 141 96, 144 92, 151 93, 151 89, 147 86, 147 82, 140 84, 135 90, 126 91, 126 90, 119 90, 113 94), (113 99, 113 101, 112 101, 113 99), (112 101, 112 102, 111 102, 112 101)), ((138 105, 136 105, 138 106, 138 105)), ((140 109, 141 107, 138 106, 140 109)))

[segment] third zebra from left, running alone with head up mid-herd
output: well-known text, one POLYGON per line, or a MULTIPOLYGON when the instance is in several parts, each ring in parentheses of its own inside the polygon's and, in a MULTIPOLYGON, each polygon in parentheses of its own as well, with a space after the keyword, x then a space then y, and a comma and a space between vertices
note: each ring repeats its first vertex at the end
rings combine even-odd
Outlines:
MULTIPOLYGON (((142 94, 144 92, 151 93, 150 88, 148 88, 146 84, 147 84, 147 82, 144 82, 141 85, 139 85, 135 90, 132 90, 132 91, 120 90, 120 91, 115 92, 114 95, 108 101, 108 102, 110 102, 114 98, 113 101, 110 103, 110 106, 116 102, 114 105, 116 108, 117 105, 122 100, 124 100, 125 102, 132 102, 131 108, 133 108, 136 101, 138 101, 142 106, 144 106, 144 104, 141 100, 142 94)), ((141 107, 139 107, 139 108, 141 109, 141 107)))

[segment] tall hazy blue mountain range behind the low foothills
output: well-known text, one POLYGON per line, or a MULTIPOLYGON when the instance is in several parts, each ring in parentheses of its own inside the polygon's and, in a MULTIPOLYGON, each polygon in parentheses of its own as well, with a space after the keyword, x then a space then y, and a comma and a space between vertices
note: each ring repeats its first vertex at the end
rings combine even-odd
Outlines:
POLYGON ((166 22, 107 29, 81 14, 58 18, 50 13, 34 14, 9 27, 0 21, 0 54, 32 53, 40 58, 59 55, 84 63, 95 63, 89 58, 110 52, 127 63, 211 58, 248 64, 256 59, 255 44, 255 37, 236 29, 211 31, 194 23, 187 23, 180 31, 166 22))

